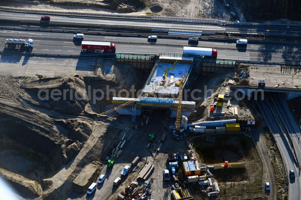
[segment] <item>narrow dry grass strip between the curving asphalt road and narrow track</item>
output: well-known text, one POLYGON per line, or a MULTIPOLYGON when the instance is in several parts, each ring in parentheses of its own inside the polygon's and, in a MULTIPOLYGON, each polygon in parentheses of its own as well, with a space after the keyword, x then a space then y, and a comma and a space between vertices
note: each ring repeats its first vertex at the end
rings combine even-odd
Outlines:
POLYGON ((271 134, 266 132, 266 145, 269 147, 268 155, 271 158, 272 165, 274 167, 274 173, 276 178, 277 199, 287 199, 287 190, 285 185, 287 183, 287 176, 284 170, 284 164, 281 159, 280 152, 278 150, 275 140, 271 137, 271 134))

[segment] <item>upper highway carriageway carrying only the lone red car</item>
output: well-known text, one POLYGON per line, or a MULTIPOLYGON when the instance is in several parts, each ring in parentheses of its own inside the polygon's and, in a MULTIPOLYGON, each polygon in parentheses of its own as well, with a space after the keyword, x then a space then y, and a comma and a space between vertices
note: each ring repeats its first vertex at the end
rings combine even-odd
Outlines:
MULTIPOLYGON (((14 20, 35 20, 39 21, 45 14, 30 14, 22 12, 0 11, 0 19, 14 20)), ((252 23, 226 23, 225 26, 185 23, 185 22, 160 22, 160 21, 142 21, 137 19, 102 19, 101 17, 84 17, 84 16, 67 16, 67 15, 51 15, 51 22, 67 22, 67 23, 85 23, 85 24, 106 24, 120 26, 142 26, 150 28, 166 28, 166 29, 189 29, 189 30, 226 30, 227 32, 265 32, 270 34, 287 34, 301 35, 301 27, 299 26, 271 26, 252 23)))

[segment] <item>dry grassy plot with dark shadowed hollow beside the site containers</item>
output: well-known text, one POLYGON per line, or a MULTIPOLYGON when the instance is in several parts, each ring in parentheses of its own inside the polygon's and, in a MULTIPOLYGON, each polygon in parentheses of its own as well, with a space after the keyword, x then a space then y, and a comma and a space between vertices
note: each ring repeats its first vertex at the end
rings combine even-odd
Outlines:
MULTIPOLYGON (((261 195, 263 165, 251 138, 227 134, 215 136, 215 142, 210 142, 204 136, 194 139, 194 147, 200 156, 199 164, 214 165, 224 161, 245 164, 245 168, 224 168, 219 165, 210 170, 212 180, 219 183, 221 191, 217 199, 268 199, 264 189, 261 195)), ((208 198, 194 185, 191 192, 195 199, 208 198)))

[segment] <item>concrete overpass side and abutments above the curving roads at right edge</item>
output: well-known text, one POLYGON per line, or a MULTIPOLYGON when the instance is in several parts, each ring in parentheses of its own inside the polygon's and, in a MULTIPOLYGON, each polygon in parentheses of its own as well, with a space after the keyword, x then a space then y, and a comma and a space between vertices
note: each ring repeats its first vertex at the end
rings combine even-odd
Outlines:
MULTIPOLYGON (((231 85, 230 88, 235 89, 237 92, 243 93, 243 95, 247 97, 254 98, 255 100, 257 99, 258 94, 261 94, 261 96, 263 97, 264 92, 285 93, 287 100, 301 96, 301 89, 298 88, 260 87, 260 86, 241 86, 241 85, 231 85)), ((243 97, 238 96, 238 98, 243 98, 243 97)))

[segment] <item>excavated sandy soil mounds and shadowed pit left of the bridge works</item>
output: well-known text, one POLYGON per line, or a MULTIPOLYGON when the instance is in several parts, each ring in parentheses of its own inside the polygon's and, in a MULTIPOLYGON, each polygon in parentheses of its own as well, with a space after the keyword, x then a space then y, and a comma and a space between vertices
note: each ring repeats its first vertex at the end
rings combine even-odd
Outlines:
POLYGON ((88 89, 129 89, 139 73, 115 61, 98 64, 95 75, 87 76, 0 76, 0 158, 5 161, 0 171, 20 198, 66 199, 72 191, 86 190, 99 175, 99 161, 122 134, 123 123, 112 122, 113 116, 98 118, 107 100, 88 98, 88 89), (47 99, 52 91, 66 91, 68 98, 47 99))

